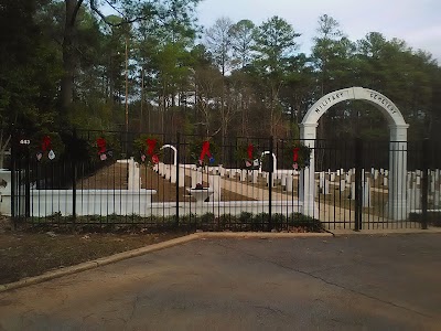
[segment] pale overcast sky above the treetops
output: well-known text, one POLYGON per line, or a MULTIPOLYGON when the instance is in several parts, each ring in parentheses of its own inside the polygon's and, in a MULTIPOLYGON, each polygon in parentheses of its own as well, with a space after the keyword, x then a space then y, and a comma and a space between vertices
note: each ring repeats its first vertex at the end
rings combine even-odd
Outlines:
POLYGON ((260 24, 279 15, 302 34, 300 51, 305 53, 311 50, 319 17, 326 13, 352 41, 380 32, 432 53, 441 64, 441 0, 203 0, 197 11, 205 28, 220 17, 260 24))

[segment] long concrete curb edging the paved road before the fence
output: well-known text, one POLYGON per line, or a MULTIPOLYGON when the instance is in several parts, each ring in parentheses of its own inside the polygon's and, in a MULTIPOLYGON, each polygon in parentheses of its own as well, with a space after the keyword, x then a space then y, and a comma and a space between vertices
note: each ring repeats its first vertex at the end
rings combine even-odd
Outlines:
POLYGON ((441 233, 441 228, 431 229, 406 229, 406 231, 336 231, 334 233, 248 233, 248 232, 200 232, 183 237, 174 238, 171 241, 149 245, 138 249, 118 253, 108 257, 98 258, 96 260, 82 263, 76 266, 66 267, 53 271, 47 271, 43 275, 24 278, 19 281, 0 285, 0 292, 18 289, 21 287, 35 285, 54 278, 60 278, 67 275, 82 273, 85 270, 94 269, 99 266, 106 266, 131 257, 141 256, 151 252, 173 247, 176 245, 185 244, 198 238, 308 238, 308 237, 332 237, 332 236, 347 236, 347 235, 390 235, 390 234, 428 234, 441 233))

